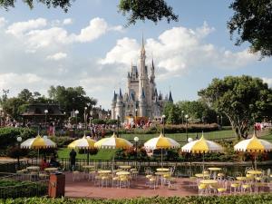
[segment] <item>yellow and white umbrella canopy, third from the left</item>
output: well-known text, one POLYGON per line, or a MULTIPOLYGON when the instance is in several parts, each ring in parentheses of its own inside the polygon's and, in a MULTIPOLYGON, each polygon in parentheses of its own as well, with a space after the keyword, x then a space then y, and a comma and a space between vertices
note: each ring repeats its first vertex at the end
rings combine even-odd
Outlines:
POLYGON ((118 138, 115 132, 112 134, 112 137, 103 138, 102 140, 94 143, 94 147, 98 149, 129 149, 132 146, 133 145, 130 141, 118 138))

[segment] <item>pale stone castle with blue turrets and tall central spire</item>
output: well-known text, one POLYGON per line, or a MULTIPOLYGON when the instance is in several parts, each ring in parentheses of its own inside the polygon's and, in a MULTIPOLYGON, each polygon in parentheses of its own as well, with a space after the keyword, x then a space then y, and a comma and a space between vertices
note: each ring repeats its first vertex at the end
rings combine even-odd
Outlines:
POLYGON ((150 119, 160 118, 163 105, 173 102, 171 92, 163 99, 157 92, 155 83, 155 67, 152 60, 151 75, 145 65, 145 48, 142 40, 139 59, 140 73, 137 66, 131 64, 131 72, 128 73, 127 92, 119 94, 114 91, 112 99, 112 119, 120 117, 125 121, 126 117, 146 117, 150 119))

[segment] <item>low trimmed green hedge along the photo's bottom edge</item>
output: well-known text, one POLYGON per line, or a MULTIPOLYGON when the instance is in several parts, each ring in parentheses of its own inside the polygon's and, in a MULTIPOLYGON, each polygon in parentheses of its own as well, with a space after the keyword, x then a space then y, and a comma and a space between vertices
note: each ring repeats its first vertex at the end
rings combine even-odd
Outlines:
POLYGON ((1 203, 6 204, 256 204, 272 203, 272 194, 258 195, 237 195, 237 196, 208 196, 208 197, 153 197, 153 198, 136 198, 136 199, 46 199, 46 198, 29 198, 29 199, 2 199, 1 203))

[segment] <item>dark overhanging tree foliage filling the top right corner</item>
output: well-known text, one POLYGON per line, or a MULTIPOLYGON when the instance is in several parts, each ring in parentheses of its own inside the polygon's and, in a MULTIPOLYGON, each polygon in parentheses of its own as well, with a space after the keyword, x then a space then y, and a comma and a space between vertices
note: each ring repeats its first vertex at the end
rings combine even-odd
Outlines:
POLYGON ((253 53, 272 55, 272 0, 235 0, 230 6, 234 15, 228 21, 232 37, 238 33, 236 45, 246 41, 253 53))

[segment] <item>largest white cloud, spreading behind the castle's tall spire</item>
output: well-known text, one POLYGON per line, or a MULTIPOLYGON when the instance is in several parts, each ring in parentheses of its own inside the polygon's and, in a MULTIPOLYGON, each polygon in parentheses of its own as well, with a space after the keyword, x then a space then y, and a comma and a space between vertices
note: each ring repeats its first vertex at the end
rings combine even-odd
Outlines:
MULTIPOLYGON (((146 40, 145 48, 147 63, 151 63, 151 55, 159 67, 159 77, 169 78, 187 73, 204 64, 219 69, 238 68, 258 59, 257 55, 241 52, 231 52, 218 48, 213 44, 204 43, 205 37, 215 31, 213 27, 204 24, 195 30, 186 27, 173 27, 159 35, 158 39, 146 40)), ((135 39, 123 38, 99 60, 101 64, 136 63, 139 58, 140 44, 135 39)))

